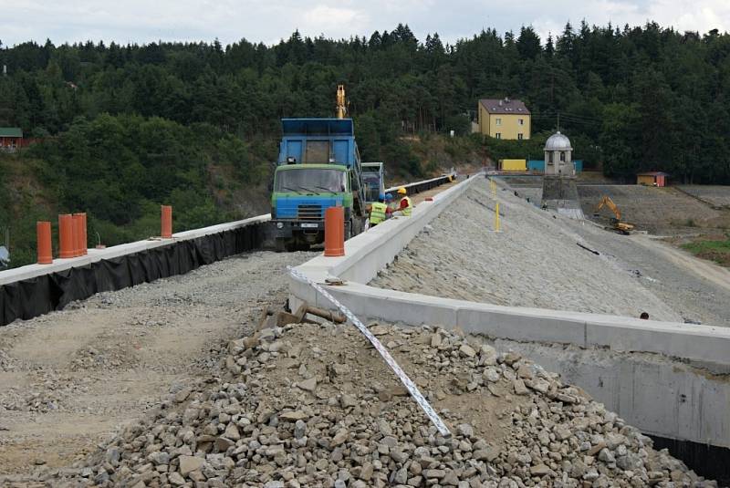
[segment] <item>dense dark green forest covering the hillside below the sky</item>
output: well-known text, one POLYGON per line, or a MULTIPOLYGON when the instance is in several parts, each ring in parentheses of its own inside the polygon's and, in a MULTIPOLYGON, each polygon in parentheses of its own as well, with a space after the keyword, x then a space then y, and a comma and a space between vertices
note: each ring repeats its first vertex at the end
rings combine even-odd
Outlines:
POLYGON ((339 83, 363 159, 392 174, 427 172, 404 135, 455 130, 488 154, 524 157, 559 114, 575 157, 607 175, 730 183, 730 35, 716 30, 581 23, 541 39, 526 26, 444 45, 399 25, 343 40, 295 32, 274 46, 0 47, 0 126, 43 140, 22 157, 47 200, 95 209, 98 225, 119 234, 110 241, 151 224, 162 200, 180 202, 183 227, 231 216, 224 187, 266 185, 278 119, 331 116, 339 83), (506 96, 532 110, 536 140, 468 135, 477 99, 506 96))

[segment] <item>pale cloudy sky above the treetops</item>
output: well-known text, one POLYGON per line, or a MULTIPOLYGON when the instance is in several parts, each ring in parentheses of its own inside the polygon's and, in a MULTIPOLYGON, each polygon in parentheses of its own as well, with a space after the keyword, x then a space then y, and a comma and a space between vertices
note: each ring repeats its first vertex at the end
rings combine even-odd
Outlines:
POLYGON ((103 40, 120 44, 163 41, 233 43, 242 37, 276 44, 298 29, 304 36, 368 36, 408 24, 421 40, 444 41, 494 27, 504 34, 533 26, 547 38, 566 22, 578 26, 643 25, 730 30, 730 0, 0 0, 0 41, 54 44, 103 40), (691 4, 691 5, 690 5, 691 4))

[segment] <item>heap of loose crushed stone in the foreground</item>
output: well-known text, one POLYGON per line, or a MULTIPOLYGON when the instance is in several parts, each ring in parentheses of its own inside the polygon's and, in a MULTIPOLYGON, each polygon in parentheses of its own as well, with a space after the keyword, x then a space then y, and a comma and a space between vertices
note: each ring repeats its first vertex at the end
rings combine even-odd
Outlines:
MULTIPOLYGON (((582 389, 437 327, 370 325, 449 425, 444 438, 351 326, 231 341, 216 377, 167 400, 52 486, 716 486, 582 389)), ((43 484, 41 484, 43 485, 43 484)))

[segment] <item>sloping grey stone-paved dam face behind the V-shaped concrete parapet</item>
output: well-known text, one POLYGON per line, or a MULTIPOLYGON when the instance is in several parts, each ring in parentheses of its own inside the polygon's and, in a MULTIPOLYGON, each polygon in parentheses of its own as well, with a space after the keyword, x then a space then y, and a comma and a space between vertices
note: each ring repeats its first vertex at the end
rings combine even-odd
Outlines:
POLYGON ((541 211, 512 192, 497 191, 502 231, 488 182, 475 182, 381 272, 372 285, 505 306, 575 310, 654 319, 681 315, 645 286, 641 268, 628 269, 600 251, 627 239, 541 211))

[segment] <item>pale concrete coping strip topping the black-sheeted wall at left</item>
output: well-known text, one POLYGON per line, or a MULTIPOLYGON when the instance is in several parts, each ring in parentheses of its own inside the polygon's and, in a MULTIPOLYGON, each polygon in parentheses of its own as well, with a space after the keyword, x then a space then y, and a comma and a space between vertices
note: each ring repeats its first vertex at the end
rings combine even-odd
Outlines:
POLYGON ((122 255, 140 253, 142 251, 154 249, 162 245, 172 244, 174 242, 197 239, 204 235, 233 231, 240 227, 251 225, 252 223, 266 222, 270 220, 270 218, 271 216, 266 213, 265 215, 257 215, 250 219, 230 223, 220 223, 217 225, 211 225, 210 227, 203 227, 202 229, 193 229, 192 231, 172 234, 172 239, 148 239, 146 241, 137 241, 135 243, 114 245, 107 247, 106 249, 89 249, 89 254, 87 255, 69 259, 54 259, 52 265, 27 265, 19 268, 8 269, 0 272, 0 285, 7 285, 9 283, 15 283, 16 281, 35 278, 36 276, 50 275, 51 273, 57 273, 73 267, 89 265, 104 259, 113 259, 122 255))

